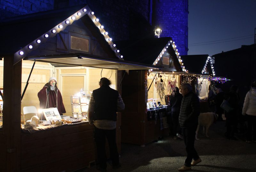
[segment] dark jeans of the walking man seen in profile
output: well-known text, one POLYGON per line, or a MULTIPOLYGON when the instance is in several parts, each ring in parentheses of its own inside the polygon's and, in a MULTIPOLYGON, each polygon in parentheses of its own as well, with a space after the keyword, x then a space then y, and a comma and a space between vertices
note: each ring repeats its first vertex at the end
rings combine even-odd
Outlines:
POLYGON ((187 159, 185 160, 184 165, 187 167, 191 167, 192 159, 198 160, 199 158, 196 152, 196 149, 194 147, 196 128, 197 128, 197 125, 193 127, 182 128, 183 140, 185 142, 186 151, 187 151, 187 159))

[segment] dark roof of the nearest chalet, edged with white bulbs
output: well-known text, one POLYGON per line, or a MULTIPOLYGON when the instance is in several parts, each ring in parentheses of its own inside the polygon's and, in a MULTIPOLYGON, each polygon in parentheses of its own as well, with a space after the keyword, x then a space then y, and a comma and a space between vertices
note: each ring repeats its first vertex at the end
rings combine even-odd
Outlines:
POLYGON ((123 60, 121 54, 113 46, 114 43, 108 36, 108 33, 104 28, 100 28, 100 22, 96 20, 94 13, 88 5, 42 11, 3 20, 0 23, 0 31, 3 33, 0 36, 0 55, 7 57, 14 54, 15 64, 43 42, 56 36, 57 33, 63 31, 68 25, 72 25, 73 22, 79 19, 83 20, 83 22, 90 20, 89 29, 101 35, 101 40, 106 44, 104 47, 108 47, 109 54, 112 54, 111 58, 123 60), (39 42, 37 42, 38 40, 39 42), (33 46, 32 49, 28 48, 29 45, 33 46))

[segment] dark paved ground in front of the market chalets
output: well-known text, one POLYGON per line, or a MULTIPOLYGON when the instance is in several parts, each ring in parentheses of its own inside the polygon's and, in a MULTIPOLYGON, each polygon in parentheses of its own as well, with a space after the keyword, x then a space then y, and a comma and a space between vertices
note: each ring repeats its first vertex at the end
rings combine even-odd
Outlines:
MULTIPOLYGON (((244 134, 236 134, 240 141, 231 141, 224 137, 225 121, 210 127, 209 136, 203 135, 200 128, 195 148, 202 162, 188 171, 198 172, 256 172, 256 143, 248 144, 244 134)), ((151 142, 146 147, 122 144, 120 162, 122 167, 113 170, 108 164, 107 171, 178 171, 186 158, 183 140, 173 140, 166 136, 162 140, 151 142)), ((77 172, 97 171, 96 166, 84 168, 77 172)))

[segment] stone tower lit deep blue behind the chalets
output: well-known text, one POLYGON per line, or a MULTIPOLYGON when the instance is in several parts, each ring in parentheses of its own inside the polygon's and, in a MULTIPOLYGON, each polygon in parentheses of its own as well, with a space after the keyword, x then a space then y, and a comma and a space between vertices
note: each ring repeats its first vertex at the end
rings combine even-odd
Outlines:
POLYGON ((188 54, 188 0, 154 0, 152 25, 160 26, 160 37, 172 37, 180 55, 188 54))

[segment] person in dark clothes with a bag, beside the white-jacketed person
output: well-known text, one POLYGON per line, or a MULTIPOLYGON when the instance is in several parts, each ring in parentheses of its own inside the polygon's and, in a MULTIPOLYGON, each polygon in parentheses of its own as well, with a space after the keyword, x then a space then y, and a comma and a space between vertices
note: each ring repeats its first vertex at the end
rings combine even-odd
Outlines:
POLYGON ((229 106, 229 110, 225 110, 225 117, 226 117, 226 125, 227 125, 227 132, 225 133, 225 136, 227 139, 232 141, 239 141, 235 136, 235 130, 237 125, 237 118, 238 118, 238 87, 236 85, 232 85, 230 87, 230 91, 224 95, 224 100, 227 101, 227 104, 229 106))

